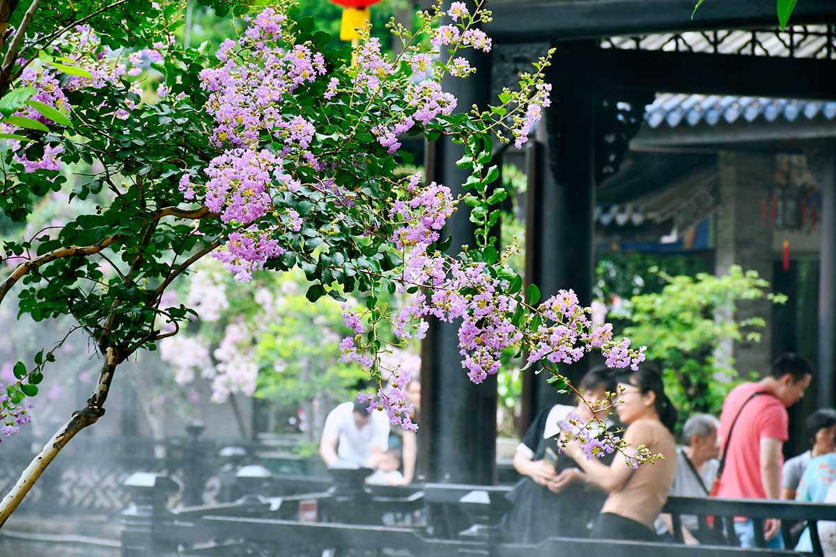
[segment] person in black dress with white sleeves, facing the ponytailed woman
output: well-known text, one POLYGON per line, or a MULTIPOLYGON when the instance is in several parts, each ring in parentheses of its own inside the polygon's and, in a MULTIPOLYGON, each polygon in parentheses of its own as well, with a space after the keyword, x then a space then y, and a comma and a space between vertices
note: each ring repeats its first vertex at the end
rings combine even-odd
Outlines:
MULTIPOLYGON (((587 403, 603 400, 605 392, 615 390, 613 374, 606 367, 596 367, 584 376, 579 389, 587 403)), ((517 446, 514 468, 523 479, 507 495, 514 506, 502 520, 503 530, 513 541, 533 544, 550 536, 583 537, 589 522, 599 514, 605 494, 590 488, 585 474, 558 448, 560 424, 569 413, 577 412, 584 420, 592 418, 587 403, 556 404, 544 410, 517 446)), ((607 411, 595 414, 605 419, 607 411)))

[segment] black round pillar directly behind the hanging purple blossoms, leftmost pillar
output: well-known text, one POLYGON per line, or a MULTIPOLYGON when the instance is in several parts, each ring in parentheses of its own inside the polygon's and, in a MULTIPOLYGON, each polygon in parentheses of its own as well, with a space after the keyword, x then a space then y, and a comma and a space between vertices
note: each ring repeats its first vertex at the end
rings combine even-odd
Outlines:
MULTIPOLYGON (((446 80, 444 88, 456 95, 458 111, 472 104, 484 106, 491 90, 490 55, 466 51, 476 75, 446 80), (477 55, 475 55, 477 54, 477 55)), ((426 149, 426 180, 446 185, 453 195, 462 193, 468 173, 456 166, 464 154, 461 145, 441 139, 426 149)), ((463 244, 474 245, 469 208, 461 204, 447 222, 453 236, 451 253, 463 244)), ((474 385, 461 367, 458 322, 433 319, 421 347, 421 416, 418 432, 421 469, 428 481, 492 484, 496 469, 497 378, 474 385)))

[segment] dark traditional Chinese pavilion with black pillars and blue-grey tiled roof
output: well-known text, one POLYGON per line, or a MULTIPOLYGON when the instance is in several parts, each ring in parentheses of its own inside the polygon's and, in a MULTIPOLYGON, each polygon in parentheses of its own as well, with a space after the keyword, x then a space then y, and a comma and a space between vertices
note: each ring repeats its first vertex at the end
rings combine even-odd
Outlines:
MULTIPOLYGON (((589 303, 596 246, 696 247, 711 251, 717 270, 753 268, 791 302, 771 316, 773 334, 760 347, 734 348, 738 367, 763 370, 772 352, 802 352, 817 368, 808 403, 832 406, 836 3, 799 2, 783 32, 774 4, 762 0, 706 2, 694 18, 682 0, 493 0, 491 8, 492 53, 472 58, 477 78, 451 83, 462 106, 486 104, 557 48, 552 108, 525 152, 526 280, 543 297, 571 287, 589 303)), ((431 145, 431 179, 461 184, 460 150, 431 145)), ((456 217, 454 244, 467 243, 471 225, 456 217)), ((468 382, 454 327, 434 323, 424 346, 426 470, 436 481, 490 483, 496 382, 468 382)), ((576 379, 585 369, 563 371, 576 379)), ((523 398, 530 419, 558 395, 528 373, 523 398)))

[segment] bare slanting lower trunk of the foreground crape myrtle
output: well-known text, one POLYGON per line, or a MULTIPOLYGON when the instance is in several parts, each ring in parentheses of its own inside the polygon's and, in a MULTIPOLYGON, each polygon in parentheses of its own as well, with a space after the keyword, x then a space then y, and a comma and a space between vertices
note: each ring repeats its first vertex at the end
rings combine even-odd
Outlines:
POLYGON ((89 397, 87 406, 74 413, 73 417, 69 418, 69 421, 64 423, 64 426, 59 428, 58 432, 49 439, 41 449, 41 452, 23 470, 17 484, 14 484, 14 487, 6 494, 3 501, 0 502, 0 528, 3 528, 3 524, 6 524, 8 517, 18 508, 23 498, 26 497, 29 490, 32 489, 35 482, 41 477, 43 471, 58 456, 61 449, 69 443, 69 440, 74 438, 76 433, 96 423, 99 418, 104 416, 104 401, 107 400, 108 392, 110 392, 110 382, 113 381, 113 374, 116 366, 120 362, 121 360, 116 355, 115 350, 108 348, 102 371, 99 374, 99 382, 96 385, 93 395, 89 397))

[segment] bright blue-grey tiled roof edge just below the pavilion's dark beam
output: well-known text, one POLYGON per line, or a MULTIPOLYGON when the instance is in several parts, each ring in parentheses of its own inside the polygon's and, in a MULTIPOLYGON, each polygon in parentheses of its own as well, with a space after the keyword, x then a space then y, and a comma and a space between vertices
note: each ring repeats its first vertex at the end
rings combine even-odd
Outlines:
POLYGON ((650 128, 763 122, 836 121, 836 101, 657 94, 645 109, 650 128))

